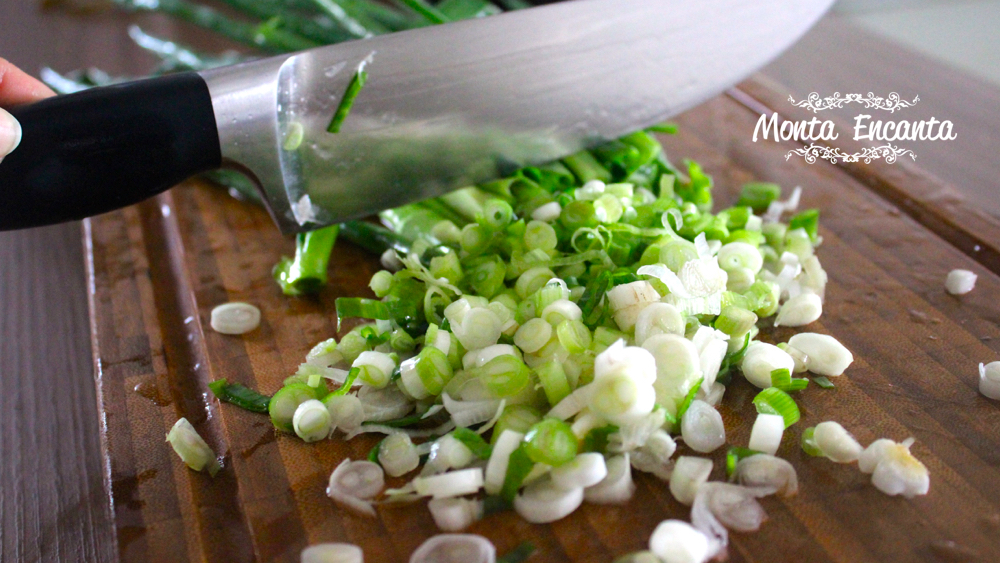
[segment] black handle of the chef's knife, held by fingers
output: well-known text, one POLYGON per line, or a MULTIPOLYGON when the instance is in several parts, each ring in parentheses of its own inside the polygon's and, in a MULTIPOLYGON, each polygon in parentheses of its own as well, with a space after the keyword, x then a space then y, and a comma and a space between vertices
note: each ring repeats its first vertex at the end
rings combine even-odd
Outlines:
POLYGON ((0 162, 0 230, 125 207, 222 163, 212 97, 196 73, 15 107, 21 144, 0 162))

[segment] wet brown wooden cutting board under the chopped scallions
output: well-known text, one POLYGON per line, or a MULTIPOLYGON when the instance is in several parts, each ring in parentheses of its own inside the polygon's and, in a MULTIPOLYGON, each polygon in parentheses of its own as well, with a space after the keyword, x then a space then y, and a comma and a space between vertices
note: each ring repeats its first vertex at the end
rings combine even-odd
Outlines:
MULTIPOLYGON (((821 210, 818 253, 830 276, 823 317, 855 355, 836 389, 799 394, 801 422, 778 453, 798 471, 800 493, 767 498, 770 520, 732 534, 732 561, 1000 561, 1000 403, 977 392, 979 362, 1000 358, 1000 225, 915 166, 806 164, 793 143, 753 143, 761 111, 786 111, 783 90, 759 79, 682 115, 668 154, 698 160, 717 185, 717 207, 750 180, 804 188, 821 210), (953 268, 979 275, 963 297, 944 292, 953 268), (836 420, 864 445, 916 438, 931 474, 913 500, 878 492, 857 466, 810 458, 803 429, 836 420)), ((843 135, 841 136, 844 137, 843 135)), ((850 146, 840 145, 850 152, 850 146)), ((316 342, 335 333, 334 299, 369 295, 376 257, 338 243, 330 284, 315 298, 283 296, 271 279, 292 252, 266 213, 223 190, 189 182, 86 223, 94 356, 104 448, 123 561, 298 561, 309 544, 356 543, 366 561, 408 561, 436 533, 424 503, 383 506, 378 519, 338 508, 324 493, 345 457, 363 458, 376 438, 305 444, 264 415, 220 405, 207 392, 225 377, 264 393, 278 389, 316 342), (257 305, 260 328, 242 337, 208 329, 227 301, 257 305), (214 479, 187 469, 164 442, 186 416, 225 469, 214 479)), ((765 329, 779 342, 797 332, 765 329)), ((720 408, 728 443, 746 445, 754 395, 741 378, 720 408)), ((682 448, 683 450, 683 448, 682 448)), ((724 478, 724 450, 713 479, 724 478)), ((397 481, 398 482, 398 481, 397 481)), ((469 531, 505 553, 523 540, 532 561, 610 562, 644 549, 667 518, 688 519, 666 483, 637 474, 625 506, 584 505, 551 525, 499 514, 469 531)))

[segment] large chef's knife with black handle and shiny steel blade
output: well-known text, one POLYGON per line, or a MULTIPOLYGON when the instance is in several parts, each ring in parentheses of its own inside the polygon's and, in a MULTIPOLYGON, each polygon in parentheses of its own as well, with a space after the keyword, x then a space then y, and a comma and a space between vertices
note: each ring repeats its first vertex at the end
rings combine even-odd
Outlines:
POLYGON ((223 166, 254 180, 282 231, 361 217, 663 121, 831 3, 573 0, 44 100, 12 111, 23 138, 0 162, 0 229, 223 166), (327 132, 362 65, 367 84, 327 132))

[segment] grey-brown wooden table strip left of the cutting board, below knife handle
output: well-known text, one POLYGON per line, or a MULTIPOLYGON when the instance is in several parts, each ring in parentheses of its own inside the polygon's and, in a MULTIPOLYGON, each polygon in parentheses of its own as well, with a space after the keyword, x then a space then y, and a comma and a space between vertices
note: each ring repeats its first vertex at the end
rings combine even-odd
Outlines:
POLYGON ((116 559, 79 243, 0 233, 0 561, 116 559))

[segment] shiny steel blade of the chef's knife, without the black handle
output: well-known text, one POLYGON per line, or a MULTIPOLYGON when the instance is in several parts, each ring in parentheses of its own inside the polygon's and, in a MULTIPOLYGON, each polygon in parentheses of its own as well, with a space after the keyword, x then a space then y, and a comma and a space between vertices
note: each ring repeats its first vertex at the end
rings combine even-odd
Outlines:
POLYGON ((573 0, 202 76, 225 162, 296 232, 663 121, 766 64, 831 3, 573 0), (367 84, 328 133, 363 61, 367 84), (300 128, 302 143, 286 145, 300 128))

